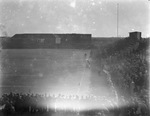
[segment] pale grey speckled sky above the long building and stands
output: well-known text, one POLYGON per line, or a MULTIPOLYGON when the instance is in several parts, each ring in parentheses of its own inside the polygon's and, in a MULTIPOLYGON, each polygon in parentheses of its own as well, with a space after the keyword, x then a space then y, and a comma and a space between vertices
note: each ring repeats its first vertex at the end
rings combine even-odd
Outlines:
POLYGON ((90 33, 150 37, 148 0, 0 0, 0 36, 17 33, 90 33))

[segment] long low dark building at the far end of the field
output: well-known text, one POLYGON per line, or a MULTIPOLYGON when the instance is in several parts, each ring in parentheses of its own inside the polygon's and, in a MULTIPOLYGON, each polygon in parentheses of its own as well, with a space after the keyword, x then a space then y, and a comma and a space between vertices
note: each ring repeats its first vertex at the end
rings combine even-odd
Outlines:
POLYGON ((16 34, 3 41, 4 49, 90 49, 91 34, 16 34))

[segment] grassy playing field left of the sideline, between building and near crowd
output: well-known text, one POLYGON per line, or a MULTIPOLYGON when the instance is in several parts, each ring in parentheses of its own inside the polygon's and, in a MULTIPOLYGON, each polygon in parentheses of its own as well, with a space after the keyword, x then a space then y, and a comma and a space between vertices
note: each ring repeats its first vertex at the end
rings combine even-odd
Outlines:
MULTIPOLYGON (((2 92, 43 92, 78 85, 90 50, 3 49, 2 92)), ((60 89, 61 91, 61 89, 60 89)))

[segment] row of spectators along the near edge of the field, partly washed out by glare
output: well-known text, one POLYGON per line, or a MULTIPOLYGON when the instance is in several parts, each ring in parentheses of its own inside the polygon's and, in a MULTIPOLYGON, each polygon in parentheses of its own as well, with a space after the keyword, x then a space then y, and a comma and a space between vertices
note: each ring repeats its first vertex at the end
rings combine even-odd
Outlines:
MULTIPOLYGON (((103 97, 72 95, 41 95, 41 94, 19 94, 9 93, 3 94, 0 99, 0 106, 4 112, 49 112, 58 110, 79 111, 84 106, 93 105, 93 107, 101 101, 106 100, 103 97), (82 104, 82 105, 81 105, 82 104)), ((87 107, 90 109, 90 107, 87 107)))

